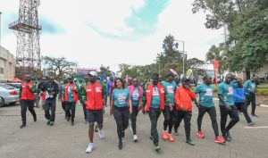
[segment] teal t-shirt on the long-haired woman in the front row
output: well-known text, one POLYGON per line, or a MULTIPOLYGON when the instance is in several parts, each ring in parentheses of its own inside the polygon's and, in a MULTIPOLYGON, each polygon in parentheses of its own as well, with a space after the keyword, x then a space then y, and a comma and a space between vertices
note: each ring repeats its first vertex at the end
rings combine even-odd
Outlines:
POLYGON ((126 107, 128 106, 127 101, 130 99, 130 91, 128 88, 119 89, 115 88, 113 90, 112 99, 114 105, 117 107, 126 107))

